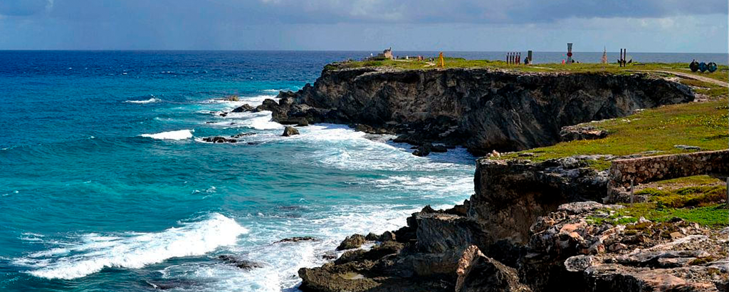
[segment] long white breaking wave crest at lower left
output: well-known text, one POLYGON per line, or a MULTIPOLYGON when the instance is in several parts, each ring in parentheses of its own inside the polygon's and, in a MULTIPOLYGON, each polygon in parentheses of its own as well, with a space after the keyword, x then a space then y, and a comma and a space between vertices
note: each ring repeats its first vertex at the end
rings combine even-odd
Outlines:
POLYGON ((69 247, 34 253, 14 263, 28 266, 28 273, 36 277, 75 279, 105 267, 139 269, 168 258, 204 255, 235 245, 238 236, 246 233, 248 230, 235 220, 212 213, 204 220, 157 233, 86 234, 69 247))

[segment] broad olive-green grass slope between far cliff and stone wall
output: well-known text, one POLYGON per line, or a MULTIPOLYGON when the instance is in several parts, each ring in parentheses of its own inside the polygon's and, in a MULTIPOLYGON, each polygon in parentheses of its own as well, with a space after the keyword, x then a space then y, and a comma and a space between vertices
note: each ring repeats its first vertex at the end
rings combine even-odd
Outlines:
MULTIPOLYGON (((518 158, 520 153, 534 153, 532 161, 545 161, 572 155, 631 155, 647 151, 660 151, 653 155, 688 153, 674 145, 693 145, 703 150, 727 148, 729 115, 727 100, 675 104, 644 110, 636 115, 590 123, 607 130, 608 137, 596 140, 560 142, 518 153, 507 153, 500 158, 518 158)), ((609 161, 591 161, 596 169, 607 169, 609 161)))

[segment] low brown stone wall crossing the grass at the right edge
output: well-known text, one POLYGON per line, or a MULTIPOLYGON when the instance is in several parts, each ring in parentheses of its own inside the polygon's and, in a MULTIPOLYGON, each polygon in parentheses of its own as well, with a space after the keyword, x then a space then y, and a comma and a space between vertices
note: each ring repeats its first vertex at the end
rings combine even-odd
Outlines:
POLYGON ((729 174, 729 150, 660 155, 612 161, 606 201, 620 201, 620 193, 634 185, 700 174, 729 174))

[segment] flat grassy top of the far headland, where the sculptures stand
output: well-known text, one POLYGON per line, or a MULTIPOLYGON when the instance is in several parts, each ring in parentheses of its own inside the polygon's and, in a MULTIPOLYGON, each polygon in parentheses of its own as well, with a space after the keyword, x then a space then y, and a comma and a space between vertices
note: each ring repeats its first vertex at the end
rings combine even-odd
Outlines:
MULTIPOLYGON (((417 61, 410 60, 383 60, 383 61, 344 61, 335 64, 329 64, 324 67, 327 70, 362 68, 362 67, 383 67, 389 69, 439 69, 436 61, 417 61)), ((534 64, 526 65, 510 65, 504 61, 489 60, 467 60, 464 58, 445 58, 445 68, 488 68, 502 69, 512 72, 609 72, 614 74, 632 73, 636 71, 649 72, 679 72, 682 74, 691 74, 698 77, 708 77, 714 80, 728 82, 729 66, 720 65, 714 73, 694 73, 688 69, 687 63, 647 63, 647 64, 628 64, 628 66, 620 67, 617 64, 534 64)))

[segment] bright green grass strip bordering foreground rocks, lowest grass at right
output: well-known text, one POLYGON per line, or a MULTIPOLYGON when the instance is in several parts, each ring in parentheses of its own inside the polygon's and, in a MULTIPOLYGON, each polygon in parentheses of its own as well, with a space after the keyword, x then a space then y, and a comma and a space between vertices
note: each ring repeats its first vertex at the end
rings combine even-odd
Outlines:
POLYGON ((607 218, 588 217, 593 223, 602 224, 628 224, 636 223, 639 218, 646 218, 653 222, 666 222, 672 218, 681 218, 687 222, 695 222, 711 228, 729 226, 729 210, 727 204, 713 204, 706 207, 694 208, 666 208, 654 202, 634 204, 616 210, 607 218))

